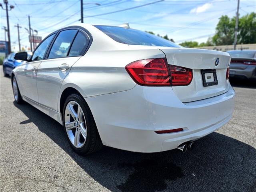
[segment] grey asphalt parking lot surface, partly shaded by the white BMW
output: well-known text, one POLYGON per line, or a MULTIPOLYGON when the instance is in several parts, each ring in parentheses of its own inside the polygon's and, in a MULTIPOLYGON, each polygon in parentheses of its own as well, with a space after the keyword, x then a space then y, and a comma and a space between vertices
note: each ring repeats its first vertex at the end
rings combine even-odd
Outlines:
POLYGON ((177 150, 142 154, 104 147, 74 153, 58 122, 14 104, 0 66, 0 191, 256 191, 256 83, 232 80, 232 120, 177 150))

